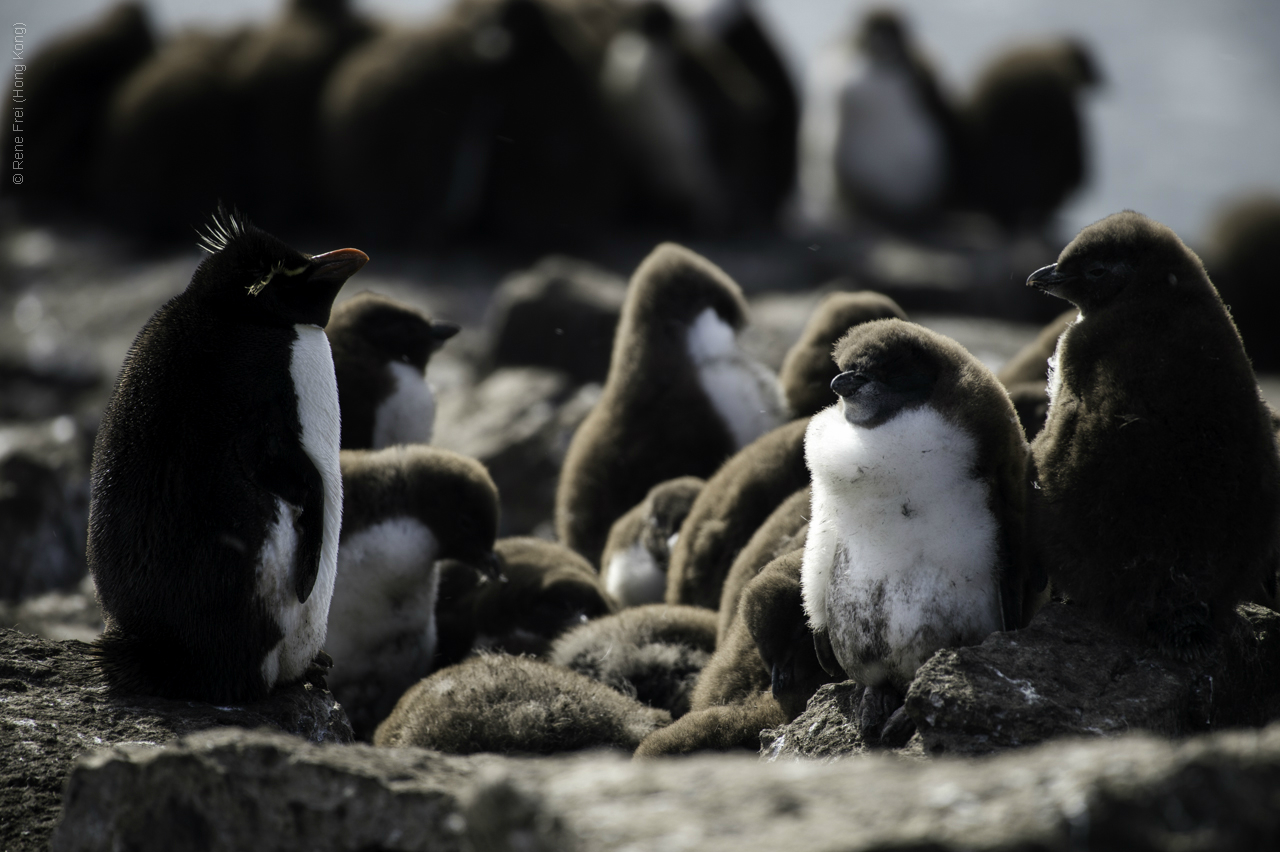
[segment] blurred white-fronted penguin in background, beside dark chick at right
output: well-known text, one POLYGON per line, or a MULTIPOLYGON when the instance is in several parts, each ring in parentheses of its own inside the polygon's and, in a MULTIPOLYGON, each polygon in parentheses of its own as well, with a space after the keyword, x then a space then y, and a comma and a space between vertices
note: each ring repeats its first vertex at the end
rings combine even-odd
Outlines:
POLYGON ((956 119, 902 18, 868 13, 812 79, 800 173, 812 212, 925 224, 951 193, 956 119))

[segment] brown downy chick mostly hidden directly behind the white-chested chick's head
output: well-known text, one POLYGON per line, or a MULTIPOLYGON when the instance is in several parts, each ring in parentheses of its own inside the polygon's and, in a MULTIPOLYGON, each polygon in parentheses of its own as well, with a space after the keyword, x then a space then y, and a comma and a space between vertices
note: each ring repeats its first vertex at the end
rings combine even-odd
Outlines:
POLYGON ((872 320, 906 319, 897 302, 873 290, 829 293, 787 349, 778 370, 792 417, 812 417, 831 404, 831 380, 840 374, 831 348, 849 329, 872 320))

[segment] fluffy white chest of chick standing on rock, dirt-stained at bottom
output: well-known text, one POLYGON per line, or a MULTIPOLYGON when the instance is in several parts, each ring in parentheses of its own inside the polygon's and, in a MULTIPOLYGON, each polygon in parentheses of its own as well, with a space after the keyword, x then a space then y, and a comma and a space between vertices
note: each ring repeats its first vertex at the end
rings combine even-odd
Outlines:
POLYGON ((1000 530, 975 453, 928 407, 877 429, 838 404, 810 422, 805 611, 860 683, 902 687, 938 649, 1001 628, 1000 530))

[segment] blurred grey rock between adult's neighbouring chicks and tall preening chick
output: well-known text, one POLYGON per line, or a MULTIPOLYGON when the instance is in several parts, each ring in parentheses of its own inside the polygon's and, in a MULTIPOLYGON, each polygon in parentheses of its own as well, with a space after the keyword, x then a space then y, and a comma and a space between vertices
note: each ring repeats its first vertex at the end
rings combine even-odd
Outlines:
POLYGON ((434 444, 489 468, 502 504, 498 535, 544 532, 568 441, 599 397, 599 385, 579 386, 554 370, 495 370, 440 394, 434 444))

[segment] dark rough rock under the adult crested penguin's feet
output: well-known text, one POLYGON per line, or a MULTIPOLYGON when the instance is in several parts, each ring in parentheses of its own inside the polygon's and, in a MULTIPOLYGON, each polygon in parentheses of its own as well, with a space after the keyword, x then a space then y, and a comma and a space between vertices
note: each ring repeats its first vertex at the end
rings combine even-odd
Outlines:
POLYGON ((352 739, 342 707, 310 683, 238 707, 111 696, 88 645, 0 629, 0 848, 47 848, 63 782, 84 752, 165 743, 220 725, 276 728, 312 742, 352 739))

